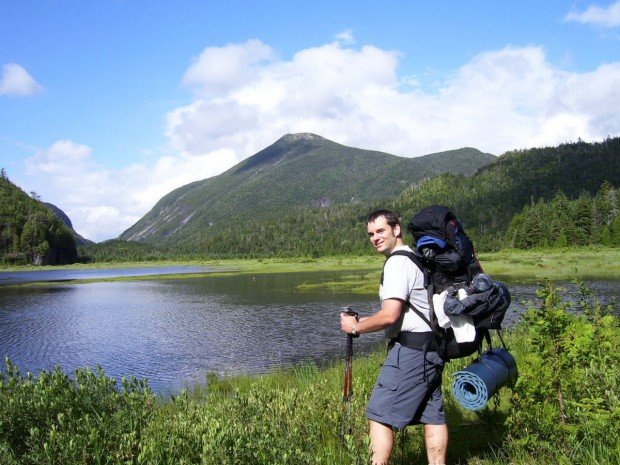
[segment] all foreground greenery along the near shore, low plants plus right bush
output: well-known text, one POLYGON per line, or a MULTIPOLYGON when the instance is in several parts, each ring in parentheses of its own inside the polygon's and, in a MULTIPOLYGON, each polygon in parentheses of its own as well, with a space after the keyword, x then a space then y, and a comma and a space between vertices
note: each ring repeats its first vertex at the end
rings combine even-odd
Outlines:
MULTIPOLYGON (((450 463, 618 463, 618 319, 585 288, 579 302, 560 295, 547 285, 541 303, 508 334, 519 380, 481 412, 461 410, 449 394, 450 373, 468 361, 447 366, 450 463)), ((350 411, 341 363, 260 377, 209 375, 206 387, 162 399, 144 381, 119 387, 101 370, 78 370, 71 379, 55 369, 35 378, 7 362, 0 463, 366 464, 363 409, 383 356, 381 349, 355 358, 350 411)), ((425 463, 420 428, 398 433, 393 462, 401 460, 425 463)))

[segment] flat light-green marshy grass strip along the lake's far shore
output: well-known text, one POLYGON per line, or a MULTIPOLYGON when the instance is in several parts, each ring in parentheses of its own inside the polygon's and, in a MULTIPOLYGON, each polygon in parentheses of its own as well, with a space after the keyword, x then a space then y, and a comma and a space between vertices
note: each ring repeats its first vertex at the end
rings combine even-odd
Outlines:
MULTIPOLYGON (((478 254, 485 273, 497 280, 512 282, 536 282, 545 279, 558 280, 620 280, 620 249, 602 247, 584 247, 580 249, 538 249, 538 250, 502 250, 478 254)), ((62 270, 103 270, 130 268, 163 268, 166 266, 204 266, 213 271, 146 274, 139 276, 117 276, 109 278, 83 278, 63 281, 34 281, 26 283, 3 284, 4 286, 32 286, 53 284, 86 284, 93 282, 114 281, 152 281, 163 279, 209 278, 226 275, 297 273, 320 271, 351 271, 366 273, 363 279, 353 279, 322 283, 322 286, 357 290, 359 292, 376 292, 373 279, 378 276, 383 265, 380 255, 368 256, 331 256, 321 258, 257 258, 257 259, 220 259, 189 260, 161 262, 109 262, 93 264, 72 264, 61 266, 19 266, 0 267, 0 273, 38 272, 62 270), (368 280, 372 290, 366 289, 368 280)), ((303 289, 302 289, 303 290, 303 289)))

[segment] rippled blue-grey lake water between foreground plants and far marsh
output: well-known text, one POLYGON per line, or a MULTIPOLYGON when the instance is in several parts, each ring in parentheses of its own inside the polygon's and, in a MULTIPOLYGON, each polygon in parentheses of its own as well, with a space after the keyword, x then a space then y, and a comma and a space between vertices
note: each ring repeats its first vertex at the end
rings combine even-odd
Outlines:
MULTIPOLYGON (((0 286, 0 356, 34 373, 54 365, 67 372, 100 365, 117 379, 147 378, 164 395, 204 384, 209 372, 256 374, 302 361, 323 363, 344 357, 340 309, 351 306, 362 315, 376 309, 376 297, 296 290, 301 283, 339 276, 0 286)), ((616 281, 591 286, 607 300, 620 295, 616 281)), ((535 299, 537 286, 509 287, 508 326, 523 312, 521 302, 535 299)), ((381 343, 381 334, 365 334, 355 340, 354 350, 365 353, 381 343)))

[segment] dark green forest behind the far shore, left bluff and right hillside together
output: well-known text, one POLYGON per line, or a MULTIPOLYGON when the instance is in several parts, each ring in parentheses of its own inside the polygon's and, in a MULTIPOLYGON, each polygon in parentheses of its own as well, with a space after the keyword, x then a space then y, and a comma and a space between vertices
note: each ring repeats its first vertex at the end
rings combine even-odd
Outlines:
MULTIPOLYGON (((107 241, 70 252, 72 238, 40 202, 0 180, 0 261, 32 263, 65 250, 66 260, 136 261, 208 258, 320 257, 370 254, 367 215, 377 208, 411 216, 448 206, 479 251, 504 247, 618 245, 620 138, 508 152, 473 176, 444 174, 381 203, 271 206, 213 222, 197 218, 189 234, 165 241, 107 241), (64 248, 63 248, 64 247, 64 248), (67 252, 68 251, 68 252, 67 252)), ((410 240, 405 237, 405 240, 410 240)), ((65 263, 67 261, 64 261, 65 263)))

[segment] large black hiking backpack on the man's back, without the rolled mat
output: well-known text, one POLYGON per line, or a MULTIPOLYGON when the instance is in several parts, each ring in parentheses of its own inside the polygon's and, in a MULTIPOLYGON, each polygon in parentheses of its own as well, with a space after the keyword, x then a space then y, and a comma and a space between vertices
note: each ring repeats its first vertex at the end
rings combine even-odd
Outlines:
POLYGON ((439 354, 445 360, 452 360, 481 353, 485 340, 491 346, 490 329, 497 330, 502 340, 499 330, 510 305, 510 293, 502 283, 491 281, 483 274, 473 243, 458 218, 443 205, 431 205, 413 216, 407 231, 413 235, 415 252, 399 250, 392 255, 407 256, 424 273, 430 319, 409 302, 408 305, 431 327, 439 354), (459 289, 466 289, 469 296, 458 299, 459 289), (449 299, 445 307, 472 317, 476 329, 474 341, 459 343, 452 328, 439 326, 433 295, 445 290, 449 299))

